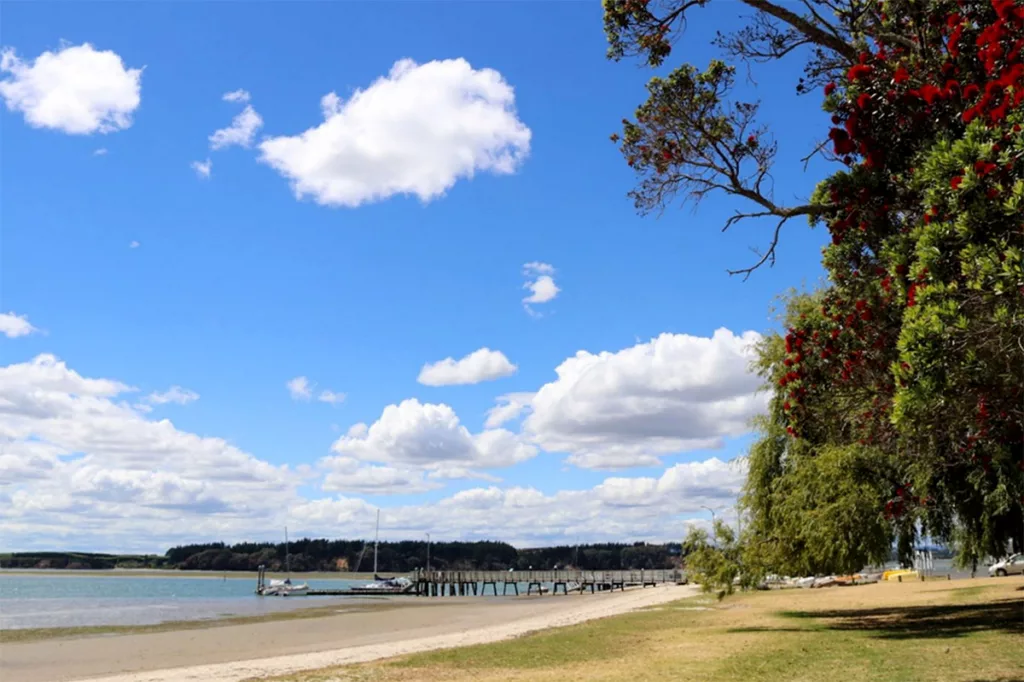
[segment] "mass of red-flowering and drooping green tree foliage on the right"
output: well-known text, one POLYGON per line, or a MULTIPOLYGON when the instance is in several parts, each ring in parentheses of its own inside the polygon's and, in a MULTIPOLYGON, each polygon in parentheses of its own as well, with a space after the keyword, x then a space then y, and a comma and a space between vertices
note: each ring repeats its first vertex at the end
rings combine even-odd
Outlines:
MULTIPOLYGON (((669 57, 710 0, 605 0, 610 55, 669 57)), ((790 299, 760 370, 773 390, 745 504, 764 560, 857 569, 921 534, 967 561, 1024 549, 1024 2, 741 0, 734 59, 804 59, 836 163, 803 205, 768 187, 776 143, 734 68, 648 85, 621 141, 648 211, 724 191, 824 225, 828 285, 790 299), (830 124, 829 124, 830 121, 830 124)))

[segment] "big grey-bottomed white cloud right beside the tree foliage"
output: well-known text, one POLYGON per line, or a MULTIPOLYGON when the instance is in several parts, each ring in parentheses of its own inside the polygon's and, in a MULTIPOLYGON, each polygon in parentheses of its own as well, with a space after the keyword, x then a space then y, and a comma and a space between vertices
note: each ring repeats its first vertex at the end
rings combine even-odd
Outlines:
POLYGON ((756 332, 663 334, 618 352, 580 351, 530 400, 524 435, 588 468, 656 466, 668 453, 751 431, 767 397, 750 369, 756 332))

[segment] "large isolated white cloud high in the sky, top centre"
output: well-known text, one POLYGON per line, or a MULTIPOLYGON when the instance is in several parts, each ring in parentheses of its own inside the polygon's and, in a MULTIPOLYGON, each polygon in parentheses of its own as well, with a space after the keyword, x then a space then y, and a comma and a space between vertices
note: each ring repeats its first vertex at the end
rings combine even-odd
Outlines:
POLYGON ((321 100, 324 122, 271 137, 260 160, 291 182, 296 198, 356 207, 395 195, 436 199, 477 172, 515 172, 529 129, 500 73, 462 58, 396 61, 347 100, 321 100))

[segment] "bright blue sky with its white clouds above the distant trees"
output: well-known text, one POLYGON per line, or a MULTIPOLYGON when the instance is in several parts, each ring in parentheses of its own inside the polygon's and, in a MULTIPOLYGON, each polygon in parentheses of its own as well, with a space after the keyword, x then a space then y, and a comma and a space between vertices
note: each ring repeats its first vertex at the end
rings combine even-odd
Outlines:
MULTIPOLYGON (((735 8, 694 13, 667 68, 719 56, 708 37, 737 26, 735 8)), ((2 46, 14 52, 0 73, 0 393, 14 407, 0 408, 0 514, 12 549, 162 550, 273 536, 285 522, 354 537, 378 506, 394 537, 664 540, 706 518, 701 505, 731 505, 741 473, 720 461, 750 436, 716 422, 735 404, 707 396, 724 390, 744 401, 739 412, 757 404, 739 335, 770 329, 774 297, 820 275, 822 233, 791 225, 779 263, 743 282, 726 269, 750 264, 770 225, 721 233, 742 208, 735 200, 636 215, 626 196, 634 176, 608 136, 652 74, 605 58, 598 3, 16 3, 2 12, 2 46), (86 43, 92 51, 75 58, 82 78, 113 79, 102 88, 37 69, 45 52, 86 43), (90 60, 99 52, 120 58, 118 69, 90 60), (392 73, 400 59, 415 62, 409 78, 392 73), (389 74, 390 89, 377 88, 389 74), (489 92, 475 93, 480 111, 460 94, 474 83, 489 92), (248 101, 223 99, 240 89, 248 101), (361 118, 345 110, 357 90, 380 95, 365 98, 361 118), (348 118, 303 142, 325 123, 330 92, 329 117, 348 118), (70 130, 90 124, 40 110, 55 101, 40 104, 40 93, 99 97, 90 111, 129 120, 70 130), (261 125, 242 144, 211 148, 246 106, 261 125), (504 166, 495 161, 503 154, 504 166), (202 177, 191 164, 208 159, 202 177), (299 176, 322 188, 298 198, 290 180, 299 176), (323 187, 352 182, 361 188, 346 201, 358 205, 326 199, 323 187), (393 189, 432 182, 447 188, 426 198, 393 189), (557 287, 535 314, 523 285, 548 270, 524 274, 527 263, 550 266, 557 287), (11 331, 15 316, 31 333, 11 331), (713 338, 720 328, 730 338, 713 338), (659 335, 669 336, 655 348, 659 335), (418 382, 425 365, 481 348, 516 371, 418 382), (556 368, 578 351, 593 354, 590 374, 559 379, 556 368), (310 399, 290 394, 296 377, 314 385, 310 399), (88 379, 125 390, 79 386, 88 379), (146 398, 172 386, 199 397, 146 398), (325 389, 344 400, 318 400, 325 389), (506 455, 487 460, 466 444, 488 430, 499 396, 539 390, 543 401, 490 429, 507 433, 506 455), (26 407, 44 402, 56 412, 26 407), (332 451, 387 406, 394 419, 375 437, 332 451), (707 423, 693 433, 678 426, 698 418, 707 423), (657 440, 665 429, 715 442, 674 450, 672 438, 657 440), (462 475, 440 475, 452 457, 438 453, 464 446, 452 456, 462 475), (364 479, 377 482, 352 487, 364 479), (538 495, 526 505, 536 525, 503 525, 515 496, 538 495)), ((763 101, 780 142, 780 201, 806 197, 821 172, 799 162, 825 123, 814 95, 795 94, 800 66, 759 68, 737 92, 763 101)))

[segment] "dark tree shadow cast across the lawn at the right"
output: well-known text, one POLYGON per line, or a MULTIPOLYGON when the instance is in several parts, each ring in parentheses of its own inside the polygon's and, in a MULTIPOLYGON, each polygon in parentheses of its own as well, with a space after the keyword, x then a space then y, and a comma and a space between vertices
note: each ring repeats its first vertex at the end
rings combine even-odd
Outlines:
POLYGON ((1019 599, 975 604, 783 611, 780 615, 825 621, 820 626, 826 630, 864 632, 884 639, 941 639, 980 632, 1024 634, 1024 602, 1019 599))

